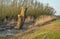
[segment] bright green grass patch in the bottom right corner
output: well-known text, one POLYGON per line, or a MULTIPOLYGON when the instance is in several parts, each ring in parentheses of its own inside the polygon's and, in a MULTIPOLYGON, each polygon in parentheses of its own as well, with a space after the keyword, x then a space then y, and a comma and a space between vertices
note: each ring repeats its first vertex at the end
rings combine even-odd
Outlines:
POLYGON ((47 33, 47 35, 45 37, 44 36, 45 34, 37 35, 33 39, 60 39, 60 31, 47 33))

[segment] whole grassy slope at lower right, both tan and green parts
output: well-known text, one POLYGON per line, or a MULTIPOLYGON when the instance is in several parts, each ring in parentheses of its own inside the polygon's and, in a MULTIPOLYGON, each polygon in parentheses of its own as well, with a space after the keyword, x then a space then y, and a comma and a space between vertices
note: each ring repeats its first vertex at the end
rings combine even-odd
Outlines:
POLYGON ((23 35, 21 39, 60 39, 60 19, 42 26, 34 33, 23 35))

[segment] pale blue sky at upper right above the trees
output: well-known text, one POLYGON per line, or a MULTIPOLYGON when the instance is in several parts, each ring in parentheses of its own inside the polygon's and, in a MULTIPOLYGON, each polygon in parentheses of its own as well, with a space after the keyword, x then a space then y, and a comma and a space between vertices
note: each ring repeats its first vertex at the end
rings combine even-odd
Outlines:
POLYGON ((56 15, 60 15, 60 0, 38 0, 43 4, 49 4, 56 10, 56 15))

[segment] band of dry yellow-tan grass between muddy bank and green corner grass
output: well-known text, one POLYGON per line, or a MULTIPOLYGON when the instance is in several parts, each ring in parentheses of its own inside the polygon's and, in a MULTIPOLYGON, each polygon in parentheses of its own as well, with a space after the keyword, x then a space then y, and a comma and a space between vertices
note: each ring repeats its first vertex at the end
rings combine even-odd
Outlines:
POLYGON ((33 39, 34 37, 41 35, 41 34, 47 34, 47 33, 54 33, 60 31, 60 20, 51 22, 50 24, 44 25, 40 27, 37 31, 31 34, 23 35, 22 37, 19 37, 19 39, 33 39))

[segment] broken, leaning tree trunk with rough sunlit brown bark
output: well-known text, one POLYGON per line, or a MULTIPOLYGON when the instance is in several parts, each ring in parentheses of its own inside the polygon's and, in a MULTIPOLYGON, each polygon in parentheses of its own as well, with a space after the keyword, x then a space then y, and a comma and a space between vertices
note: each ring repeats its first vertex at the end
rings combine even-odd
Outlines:
POLYGON ((18 14, 18 23, 15 27, 16 29, 20 29, 23 26, 26 17, 26 10, 27 9, 25 7, 22 7, 21 13, 18 14))

